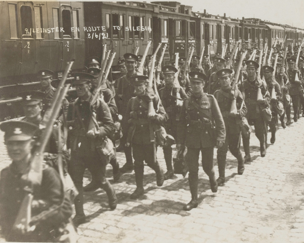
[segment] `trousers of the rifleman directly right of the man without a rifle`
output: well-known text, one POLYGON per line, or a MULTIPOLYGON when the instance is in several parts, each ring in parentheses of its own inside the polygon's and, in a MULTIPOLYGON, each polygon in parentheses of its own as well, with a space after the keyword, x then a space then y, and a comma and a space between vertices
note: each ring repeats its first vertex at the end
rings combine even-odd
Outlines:
POLYGON ((233 156, 238 160, 238 167, 244 167, 243 155, 240 149, 240 133, 232 134, 226 131, 226 139, 222 147, 217 149, 217 166, 220 178, 225 178, 226 156, 228 148, 233 156))

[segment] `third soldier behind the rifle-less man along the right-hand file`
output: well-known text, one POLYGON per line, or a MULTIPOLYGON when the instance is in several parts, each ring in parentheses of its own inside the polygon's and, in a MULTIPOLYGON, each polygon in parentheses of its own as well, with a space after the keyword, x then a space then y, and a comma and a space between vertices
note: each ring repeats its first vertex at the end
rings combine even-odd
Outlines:
MULTIPOLYGON (((278 101, 282 101, 282 92, 281 87, 277 83, 275 76, 273 76, 274 68, 271 66, 263 66, 263 72, 264 72, 264 78, 265 82, 267 84, 267 88, 269 92, 275 92, 277 100, 271 100, 270 102, 270 108, 272 111, 272 119, 269 123, 270 131, 271 131, 271 139, 270 142, 272 144, 276 141, 276 131, 278 124, 278 111, 277 111, 277 105, 278 101)), ((272 94, 272 93, 271 93, 272 94)))

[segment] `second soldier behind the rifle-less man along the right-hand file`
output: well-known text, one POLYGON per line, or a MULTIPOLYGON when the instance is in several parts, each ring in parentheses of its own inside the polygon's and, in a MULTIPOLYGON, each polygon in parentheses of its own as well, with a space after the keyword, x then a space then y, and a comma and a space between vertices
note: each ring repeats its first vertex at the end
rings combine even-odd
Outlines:
MULTIPOLYGON (((252 60, 246 61, 247 65, 247 79, 244 80, 241 91, 245 93, 245 104, 247 107, 246 118, 249 124, 254 125, 255 136, 260 142, 260 154, 262 157, 266 155, 266 144, 267 141, 267 126, 262 114, 262 110, 265 109, 270 103, 270 95, 267 90, 267 85, 257 76, 256 71, 259 67, 258 63, 252 60), (257 100, 258 89, 261 90, 263 100, 257 100)), ((244 147, 249 147, 249 139, 243 137, 244 147)))

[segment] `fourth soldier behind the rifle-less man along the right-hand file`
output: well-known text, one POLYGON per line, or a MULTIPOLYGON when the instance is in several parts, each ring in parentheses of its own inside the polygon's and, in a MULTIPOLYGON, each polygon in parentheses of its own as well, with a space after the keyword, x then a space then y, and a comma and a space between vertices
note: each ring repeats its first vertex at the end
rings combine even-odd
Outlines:
POLYGON ((278 62, 277 63, 277 73, 276 73, 276 81, 279 84, 284 84, 284 87, 282 87, 282 101, 283 101, 283 106, 284 106, 284 113, 281 115, 280 120, 281 120, 281 125, 282 128, 286 128, 286 126, 289 126, 291 124, 291 119, 290 119, 290 113, 291 113, 291 107, 290 107, 290 96, 289 96, 289 89, 290 89, 290 83, 288 80, 288 77, 286 73, 284 72, 285 68, 282 69, 282 63, 278 62), (285 113, 287 117, 287 122, 285 124, 284 118, 285 118, 285 113))

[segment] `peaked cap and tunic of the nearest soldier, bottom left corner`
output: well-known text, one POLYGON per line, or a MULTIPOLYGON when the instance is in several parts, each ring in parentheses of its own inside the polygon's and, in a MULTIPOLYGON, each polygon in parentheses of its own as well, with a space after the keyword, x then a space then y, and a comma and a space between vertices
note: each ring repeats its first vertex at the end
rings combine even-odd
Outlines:
MULTIPOLYGON (((32 139, 37 127, 25 121, 6 121, 0 125, 5 132, 6 142, 24 142, 32 139)), ((42 182, 38 187, 28 188, 21 177, 28 173, 27 167, 21 167, 25 161, 13 161, 10 166, 1 171, 0 176, 0 225, 2 234, 7 241, 26 242, 58 242, 72 215, 72 206, 68 197, 62 193, 62 182, 59 174, 51 167, 43 164, 42 182), (14 222, 24 197, 32 191, 31 221, 34 221, 34 231, 22 234, 13 231, 14 222), (62 204, 62 206, 60 206, 62 204), (57 207, 54 211, 54 207, 57 207)), ((42 163, 42 161, 41 161, 42 163)), ((25 220, 25 219, 24 219, 25 220)))

